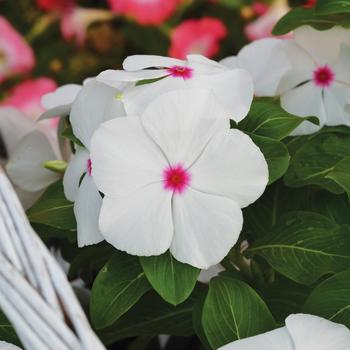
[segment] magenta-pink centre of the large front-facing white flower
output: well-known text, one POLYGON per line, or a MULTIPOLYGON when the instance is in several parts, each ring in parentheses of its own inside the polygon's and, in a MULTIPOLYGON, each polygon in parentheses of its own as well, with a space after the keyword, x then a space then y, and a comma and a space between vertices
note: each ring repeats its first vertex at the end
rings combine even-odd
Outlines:
POLYGON ((181 165, 169 166, 163 171, 164 189, 183 193, 191 182, 191 174, 181 165))

